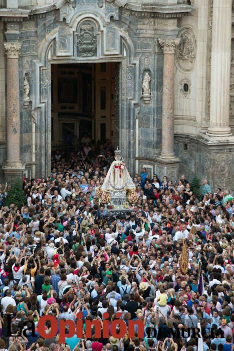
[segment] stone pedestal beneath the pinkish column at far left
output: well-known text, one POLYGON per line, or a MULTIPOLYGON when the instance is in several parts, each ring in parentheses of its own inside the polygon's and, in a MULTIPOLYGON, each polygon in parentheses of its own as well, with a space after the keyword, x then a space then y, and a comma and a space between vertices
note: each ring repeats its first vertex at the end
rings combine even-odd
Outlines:
POLYGON ((18 180, 23 183, 23 176, 25 165, 20 161, 9 161, 6 160, 3 166, 5 182, 13 184, 14 181, 18 180))

